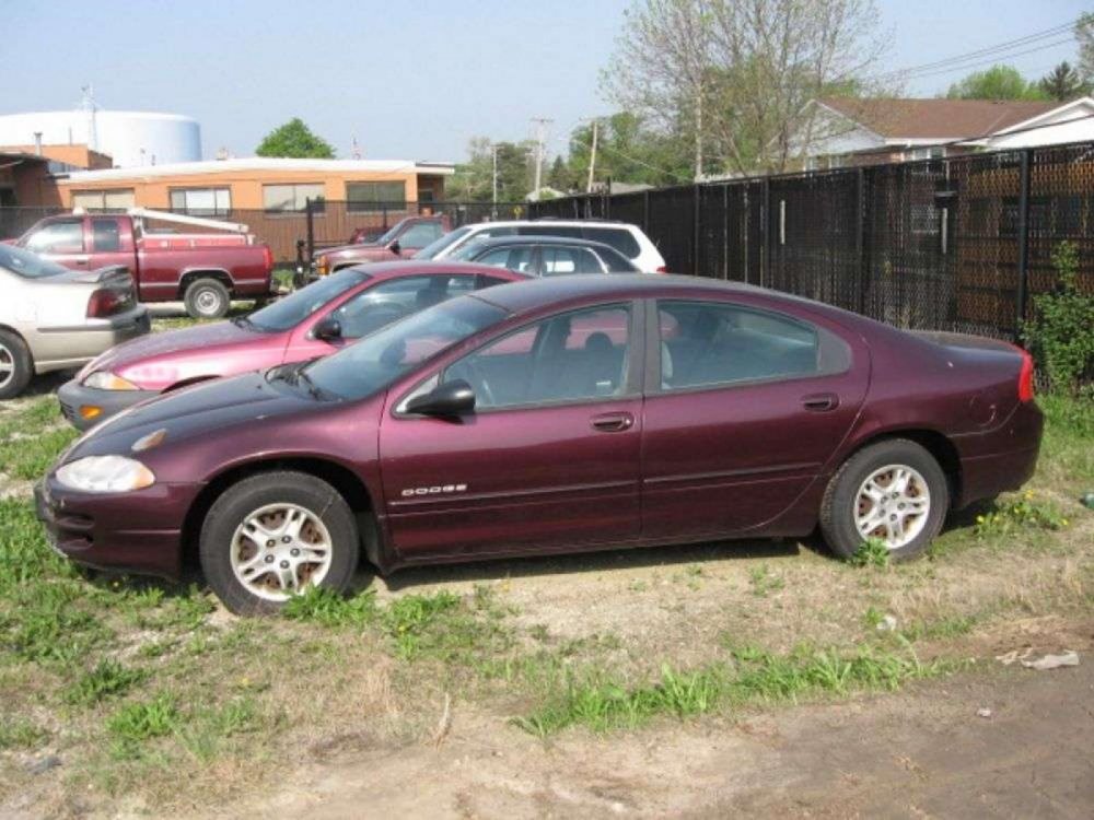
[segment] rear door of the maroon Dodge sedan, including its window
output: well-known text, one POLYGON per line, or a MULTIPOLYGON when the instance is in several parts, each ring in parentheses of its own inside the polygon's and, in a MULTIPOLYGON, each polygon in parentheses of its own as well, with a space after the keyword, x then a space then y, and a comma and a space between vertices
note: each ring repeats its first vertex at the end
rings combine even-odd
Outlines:
POLYGON ((761 530, 850 430, 868 351, 837 326, 756 305, 663 300, 648 311, 642 535, 761 530))

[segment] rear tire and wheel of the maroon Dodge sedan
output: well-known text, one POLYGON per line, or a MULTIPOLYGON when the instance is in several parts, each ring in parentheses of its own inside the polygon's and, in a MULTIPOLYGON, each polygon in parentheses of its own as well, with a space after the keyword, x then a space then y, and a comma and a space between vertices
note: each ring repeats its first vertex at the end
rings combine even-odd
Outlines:
POLYGON ((839 468, 821 504, 829 549, 849 559, 869 537, 886 541, 905 561, 934 540, 950 508, 950 482, 930 453, 907 438, 889 438, 856 453, 839 468))

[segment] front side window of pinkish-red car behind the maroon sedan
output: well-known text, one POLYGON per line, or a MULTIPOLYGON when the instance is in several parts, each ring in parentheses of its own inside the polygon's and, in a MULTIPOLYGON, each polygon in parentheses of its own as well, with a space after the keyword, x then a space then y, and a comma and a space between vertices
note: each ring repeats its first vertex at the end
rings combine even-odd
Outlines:
POLYGON ((475 290, 473 276, 422 276, 380 282, 331 313, 345 339, 360 339, 396 319, 475 290))

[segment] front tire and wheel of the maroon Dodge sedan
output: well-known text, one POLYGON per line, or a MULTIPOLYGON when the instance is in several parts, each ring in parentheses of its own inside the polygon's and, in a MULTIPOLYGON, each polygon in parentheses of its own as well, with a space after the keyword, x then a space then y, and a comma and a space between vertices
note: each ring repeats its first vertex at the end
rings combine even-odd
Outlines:
POLYGON ((236 614, 278 612, 312 584, 345 591, 359 552, 346 500, 326 481, 292 471, 228 488, 209 508, 199 542, 206 581, 236 614))

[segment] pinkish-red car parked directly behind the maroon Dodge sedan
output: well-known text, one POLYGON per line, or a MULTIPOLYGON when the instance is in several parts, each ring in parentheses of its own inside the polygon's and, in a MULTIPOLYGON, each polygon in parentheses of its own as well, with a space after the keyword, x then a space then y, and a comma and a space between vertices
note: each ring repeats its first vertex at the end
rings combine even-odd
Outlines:
POLYGON ((62 385, 57 398, 65 418, 88 430, 161 393, 326 355, 452 296, 519 279, 451 261, 347 268, 248 316, 119 345, 62 385))

